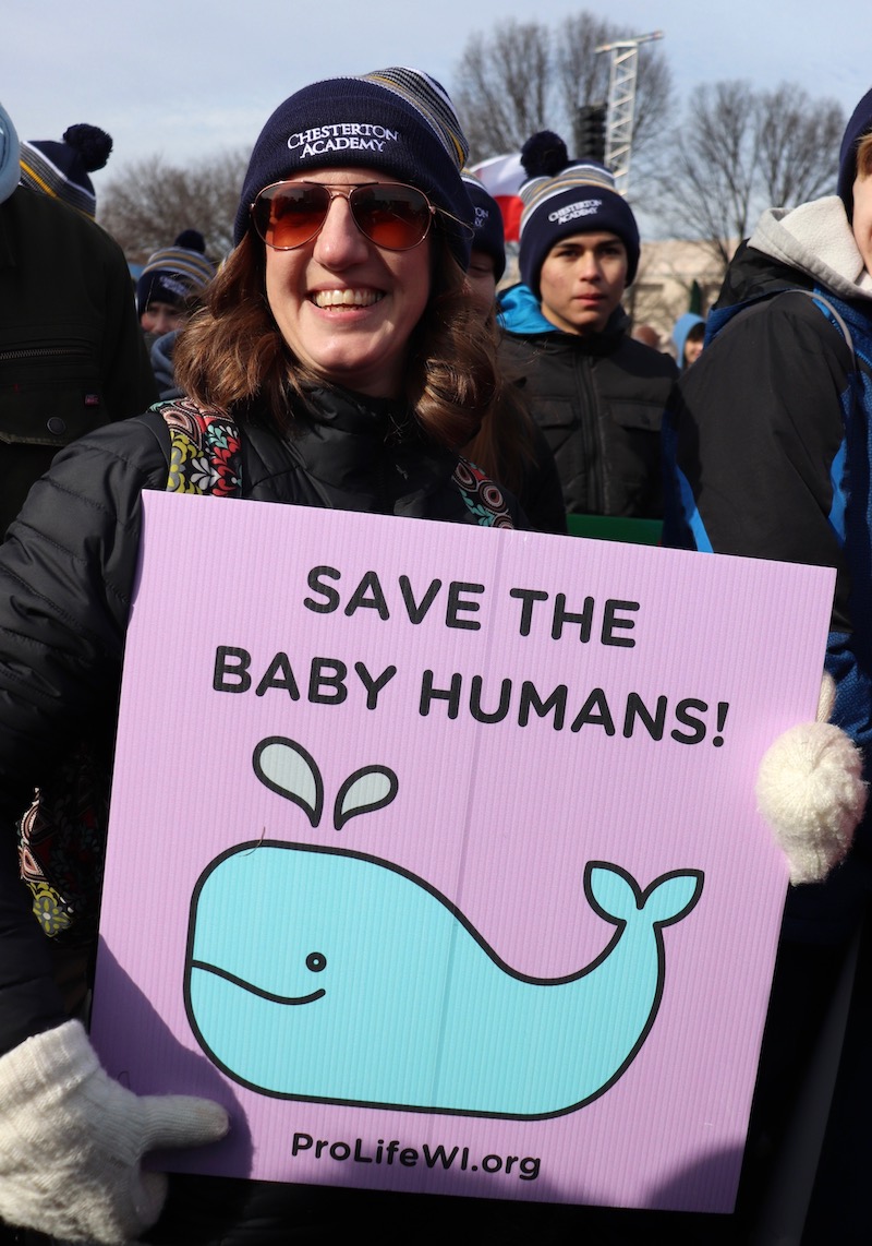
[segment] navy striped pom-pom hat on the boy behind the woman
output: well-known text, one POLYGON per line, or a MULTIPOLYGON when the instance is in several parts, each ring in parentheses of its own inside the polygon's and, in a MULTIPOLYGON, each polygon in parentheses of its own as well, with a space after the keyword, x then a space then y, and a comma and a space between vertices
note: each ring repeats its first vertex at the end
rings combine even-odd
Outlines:
POLYGON ((527 181, 521 186, 521 280, 540 298, 539 274, 555 243, 576 233, 613 233, 627 248, 627 285, 639 265, 639 229, 615 178, 593 159, 570 159, 566 143, 550 130, 521 148, 527 181))

